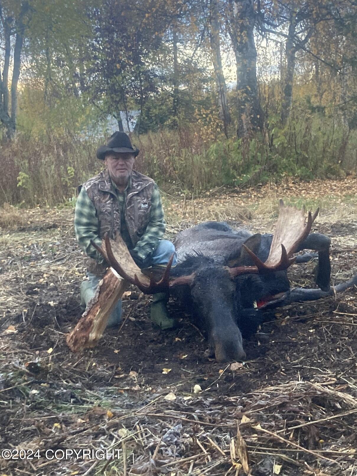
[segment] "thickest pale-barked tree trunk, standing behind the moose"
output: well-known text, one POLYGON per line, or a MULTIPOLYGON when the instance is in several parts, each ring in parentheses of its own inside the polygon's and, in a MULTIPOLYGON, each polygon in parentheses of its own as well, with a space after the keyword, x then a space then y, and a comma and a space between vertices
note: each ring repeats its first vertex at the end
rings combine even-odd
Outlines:
POLYGON ((254 42, 255 15, 252 0, 230 0, 229 33, 237 63, 238 138, 263 129, 257 81, 257 50, 254 42))

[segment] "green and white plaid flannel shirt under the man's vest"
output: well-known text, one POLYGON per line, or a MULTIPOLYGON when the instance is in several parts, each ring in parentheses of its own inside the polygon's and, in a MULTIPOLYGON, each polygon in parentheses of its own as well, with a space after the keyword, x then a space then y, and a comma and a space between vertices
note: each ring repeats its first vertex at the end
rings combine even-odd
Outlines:
MULTIPOLYGON (((126 191, 124 194, 121 194, 118 190, 116 191, 121 208, 121 216, 123 217, 123 208, 126 202, 126 191)), ((150 254, 157 248, 159 241, 165 234, 165 229, 166 222, 164 219, 164 211, 162 208, 160 192, 158 186, 155 184, 151 195, 150 221, 146 227, 144 235, 140 238, 135 248, 132 248, 132 243, 128 232, 122 233, 122 236, 128 248, 132 248, 130 249, 130 253, 133 255, 133 257, 138 257, 144 261, 146 258, 149 258, 150 254)), ((93 240, 94 243, 100 246, 102 240, 99 238, 99 220, 96 209, 84 187, 81 188, 76 202, 74 230, 79 247, 82 249, 82 251, 84 251, 84 253, 90 258, 94 258, 99 263, 103 263, 104 258, 90 243, 90 240, 93 240)))

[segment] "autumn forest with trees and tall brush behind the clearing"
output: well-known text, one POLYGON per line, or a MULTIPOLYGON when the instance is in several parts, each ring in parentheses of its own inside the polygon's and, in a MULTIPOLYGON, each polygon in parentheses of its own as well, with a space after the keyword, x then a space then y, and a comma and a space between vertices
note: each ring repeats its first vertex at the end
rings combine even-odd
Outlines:
POLYGON ((73 205, 133 109, 136 168, 168 193, 356 174, 356 20, 353 0, 1 0, 0 204, 73 205))

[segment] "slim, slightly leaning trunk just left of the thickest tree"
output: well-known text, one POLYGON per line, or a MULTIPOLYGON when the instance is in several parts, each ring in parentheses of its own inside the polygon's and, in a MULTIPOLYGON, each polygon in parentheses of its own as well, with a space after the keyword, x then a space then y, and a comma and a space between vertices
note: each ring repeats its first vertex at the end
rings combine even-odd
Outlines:
POLYGON ((218 92, 219 118, 223 121, 224 133, 228 138, 228 124, 230 115, 227 102, 227 86, 222 70, 222 59, 219 39, 219 10, 218 1, 209 2, 209 40, 211 45, 211 58, 215 72, 216 87, 218 92))

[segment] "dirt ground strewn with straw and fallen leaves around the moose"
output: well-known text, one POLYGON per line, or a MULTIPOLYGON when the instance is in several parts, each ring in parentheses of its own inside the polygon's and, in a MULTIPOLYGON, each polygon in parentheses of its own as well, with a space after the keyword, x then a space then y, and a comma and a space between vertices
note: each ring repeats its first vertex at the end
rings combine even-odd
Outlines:
MULTIPOLYGON (((329 190, 334 205, 321 210, 314 231, 332 238, 338 284, 357 270, 357 180, 338 193, 335 184, 319 183, 322 195, 311 184, 297 195, 290 183, 175 198, 169 237, 215 217, 273 231, 276 196, 314 205, 329 190), (221 202, 229 215, 212 215, 221 202)), ((244 342, 247 361, 222 365, 204 356, 205 339, 178 302, 169 311, 181 326, 158 331, 150 298, 131 288, 120 329, 73 354, 65 335, 80 317, 85 276, 73 209, 12 212, 0 228, 0 448, 17 459, 0 459, 0 472, 357 475, 356 289, 276 310, 244 342), (61 459, 65 450, 108 448, 116 451, 108 460, 61 459), (56 450, 57 459, 45 458, 56 450)), ((313 268, 290 268, 292 286, 314 287, 313 268)))

